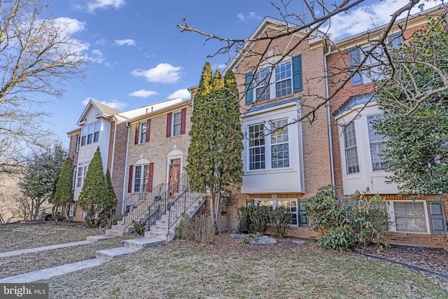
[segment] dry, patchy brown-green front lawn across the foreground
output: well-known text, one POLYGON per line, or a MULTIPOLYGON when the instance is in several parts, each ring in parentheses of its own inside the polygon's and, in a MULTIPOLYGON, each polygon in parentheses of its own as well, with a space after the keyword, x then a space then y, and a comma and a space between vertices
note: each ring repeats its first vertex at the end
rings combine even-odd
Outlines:
MULTIPOLYGON (((94 251, 117 244, 106 240, 2 258, 0 273, 92 258, 94 251)), ((448 281, 398 265, 312 242, 237 244, 225 234, 213 246, 176 240, 41 282, 50 284, 50 298, 448 298, 448 281)))

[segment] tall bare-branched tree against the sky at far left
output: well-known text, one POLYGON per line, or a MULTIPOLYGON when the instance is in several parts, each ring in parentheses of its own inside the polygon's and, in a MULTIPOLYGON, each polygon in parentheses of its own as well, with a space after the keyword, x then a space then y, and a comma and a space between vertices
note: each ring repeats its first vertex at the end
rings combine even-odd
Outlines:
POLYGON ((47 116, 40 96, 62 97, 64 84, 83 74, 70 24, 47 8, 40 0, 0 0, 0 172, 17 169, 18 153, 50 134, 39 127, 47 116))

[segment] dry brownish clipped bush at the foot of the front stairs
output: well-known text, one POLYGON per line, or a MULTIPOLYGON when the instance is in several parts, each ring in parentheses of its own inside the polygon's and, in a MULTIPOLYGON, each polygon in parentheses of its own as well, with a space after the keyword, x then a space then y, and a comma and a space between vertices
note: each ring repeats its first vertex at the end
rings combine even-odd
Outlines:
POLYGON ((179 239, 208 244, 214 244, 216 239, 214 221, 206 215, 190 218, 190 216, 183 214, 176 230, 179 239))

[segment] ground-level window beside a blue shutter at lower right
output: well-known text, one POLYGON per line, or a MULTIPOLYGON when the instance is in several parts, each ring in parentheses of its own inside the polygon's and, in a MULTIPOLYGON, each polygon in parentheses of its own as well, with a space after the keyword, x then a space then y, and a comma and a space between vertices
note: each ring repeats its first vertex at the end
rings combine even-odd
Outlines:
POLYGON ((392 230, 396 232, 427 233, 426 209, 424 202, 392 202, 389 214, 393 220, 392 230))

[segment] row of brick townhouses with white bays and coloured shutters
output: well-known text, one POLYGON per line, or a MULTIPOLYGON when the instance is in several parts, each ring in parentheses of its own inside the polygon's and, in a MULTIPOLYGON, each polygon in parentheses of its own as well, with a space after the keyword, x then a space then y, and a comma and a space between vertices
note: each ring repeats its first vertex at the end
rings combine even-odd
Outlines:
MULTIPOLYGON (((428 15, 440 13, 433 9, 413 15, 405 26, 405 20, 397 22, 388 46, 406 42, 426 24, 428 15)), ((386 183, 387 165, 381 155, 386 140, 371 125, 381 116, 372 99, 371 76, 360 72, 339 90, 349 67, 370 47, 374 35, 358 34, 330 43, 321 34, 279 35, 287 29, 291 28, 285 22, 265 18, 250 36, 257 41, 248 43, 244 53, 228 64, 241 95, 244 177, 240 190, 222 199, 219 228, 237 228, 237 207, 286 205, 293 213, 290 235, 314 236, 304 216, 304 200, 318 188, 333 184, 343 195, 368 187, 370 195, 378 193, 390 201, 389 242, 442 246, 447 200, 432 202, 431 195, 406 200, 398 197, 397 186, 386 183), (273 35, 279 37, 263 39, 273 35), (335 97, 326 102, 333 93, 335 97), (321 108, 311 112, 315 106, 321 108), (302 116, 307 118, 298 122, 302 116)), ((125 199, 130 195, 157 192, 179 178, 186 166, 196 88, 190 88, 188 101, 170 99, 126 112, 90 100, 78 128, 69 132, 74 195, 69 214, 73 220, 83 221, 76 202, 98 146, 121 211, 129 209, 125 199)))

